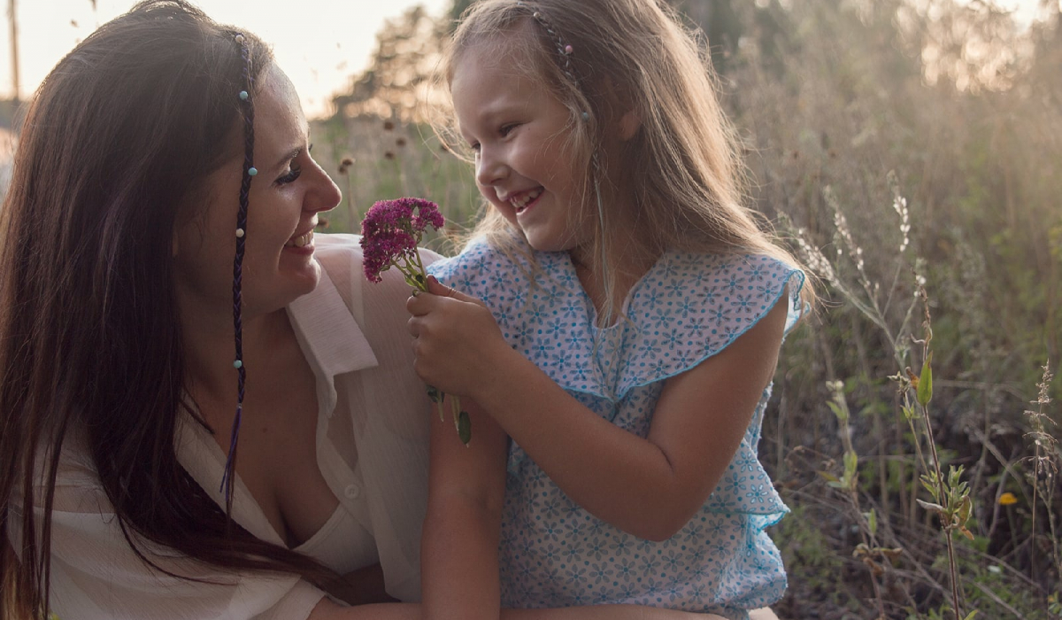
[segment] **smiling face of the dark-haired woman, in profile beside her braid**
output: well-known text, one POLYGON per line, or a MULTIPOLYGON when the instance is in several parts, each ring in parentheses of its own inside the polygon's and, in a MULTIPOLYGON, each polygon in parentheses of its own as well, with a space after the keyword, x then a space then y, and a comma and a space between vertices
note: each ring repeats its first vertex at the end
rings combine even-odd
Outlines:
MULTIPOLYGON (((234 93, 236 98, 237 94, 234 93)), ((316 286, 318 213, 339 204, 339 188, 310 156, 309 125, 288 77, 271 65, 258 79, 254 166, 242 267, 244 316, 288 305, 316 286)), ((232 304, 243 132, 239 156, 210 174, 206 204, 189 204, 174 229, 177 295, 207 312, 232 304)))

